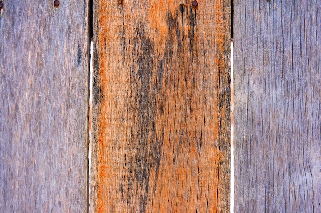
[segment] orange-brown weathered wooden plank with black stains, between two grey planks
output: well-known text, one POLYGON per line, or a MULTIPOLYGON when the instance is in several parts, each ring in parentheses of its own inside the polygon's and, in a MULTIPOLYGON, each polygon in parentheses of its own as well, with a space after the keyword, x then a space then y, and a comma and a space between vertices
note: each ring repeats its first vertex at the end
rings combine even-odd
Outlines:
POLYGON ((229 1, 94 12, 92 212, 228 212, 229 1))

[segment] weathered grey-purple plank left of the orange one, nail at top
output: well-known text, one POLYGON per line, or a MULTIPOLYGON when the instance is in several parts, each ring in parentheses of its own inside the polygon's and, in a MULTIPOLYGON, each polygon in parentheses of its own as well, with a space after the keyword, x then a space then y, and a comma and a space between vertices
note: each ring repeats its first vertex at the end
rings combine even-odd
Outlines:
POLYGON ((3 1, 0 211, 87 212, 88 4, 3 1))

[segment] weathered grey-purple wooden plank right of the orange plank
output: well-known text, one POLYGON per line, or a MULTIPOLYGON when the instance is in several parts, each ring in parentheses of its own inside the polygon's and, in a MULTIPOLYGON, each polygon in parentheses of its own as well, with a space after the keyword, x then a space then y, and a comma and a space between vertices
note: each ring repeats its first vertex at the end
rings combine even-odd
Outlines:
POLYGON ((321 4, 234 11, 235 212, 321 212, 321 4))

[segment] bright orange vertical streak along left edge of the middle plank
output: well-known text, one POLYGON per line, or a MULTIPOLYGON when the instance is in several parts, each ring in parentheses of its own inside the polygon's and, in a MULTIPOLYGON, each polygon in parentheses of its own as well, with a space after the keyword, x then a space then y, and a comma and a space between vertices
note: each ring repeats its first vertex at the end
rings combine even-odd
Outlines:
MULTIPOLYGON (((115 1, 117 2, 117 1, 115 1)), ((108 133, 109 121, 107 121, 106 116, 110 114, 108 106, 108 82, 109 76, 106 75, 106 70, 109 69, 110 65, 108 63, 108 52, 106 52, 105 41, 113 40, 111 38, 110 26, 110 14, 111 7, 114 3, 108 1, 100 1, 98 8, 98 37, 97 37, 97 47, 99 53, 99 80, 101 82, 101 93, 106 99, 101 100, 101 114, 99 115, 99 139, 98 139, 98 152, 99 152, 99 165, 98 165, 98 192, 97 192, 97 212, 109 212, 111 208, 109 196, 110 194, 110 181, 113 180, 112 170, 113 167, 110 164, 110 144, 106 141, 106 135, 108 133)))

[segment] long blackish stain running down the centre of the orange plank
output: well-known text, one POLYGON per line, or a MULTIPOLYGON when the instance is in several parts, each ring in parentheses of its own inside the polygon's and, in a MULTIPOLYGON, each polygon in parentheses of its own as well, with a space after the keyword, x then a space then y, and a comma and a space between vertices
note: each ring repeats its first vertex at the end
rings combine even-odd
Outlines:
MULTIPOLYGON (((130 105, 136 105, 134 111, 133 125, 131 127, 129 152, 124 156, 124 169, 127 177, 123 176, 122 185, 127 185, 127 202, 130 202, 130 194, 139 189, 139 206, 141 212, 145 212, 150 171, 159 168, 159 153, 162 142, 154 138, 155 126, 155 90, 152 88, 151 77, 154 64, 154 44, 145 35, 144 24, 138 23, 133 37, 133 59, 131 84, 132 101, 130 105), (138 65, 138 66, 136 66, 138 65), (137 90, 137 88, 139 88, 137 90), (139 151, 139 152, 137 152, 139 151), (127 180, 127 181, 126 181, 127 180), (134 181, 133 181, 134 180, 134 181)), ((162 73, 162 70, 159 70, 162 73)), ((161 78, 161 77, 160 77, 161 78)), ((156 177, 154 177, 156 178, 156 177)), ((123 194, 123 192, 121 191, 123 194)))

